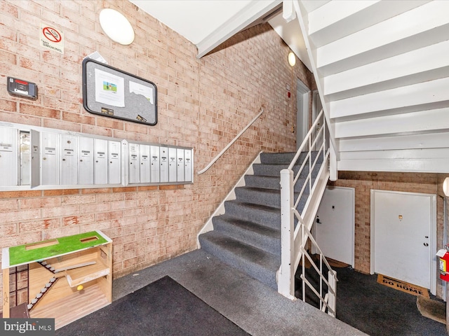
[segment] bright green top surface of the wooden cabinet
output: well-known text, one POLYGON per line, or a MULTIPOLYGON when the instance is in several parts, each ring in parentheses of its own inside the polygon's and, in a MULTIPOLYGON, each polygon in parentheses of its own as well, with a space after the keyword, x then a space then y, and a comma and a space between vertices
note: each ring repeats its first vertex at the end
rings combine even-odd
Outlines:
MULTIPOLYGON (((53 241, 55 239, 49 239, 46 241, 53 241)), ((25 244, 19 246, 13 246, 9 248, 9 265, 13 267, 14 265, 20 265, 27 262, 32 262, 35 260, 42 260, 46 258, 55 257, 56 255, 62 255, 65 253, 70 253, 83 248, 89 248, 93 246, 98 246, 107 243, 107 239, 102 237, 97 231, 91 231, 86 233, 81 233, 79 235, 73 235, 68 237, 57 238, 59 244, 54 244, 51 246, 43 246, 39 248, 33 248, 27 250, 27 246, 32 246, 36 243, 25 244), (93 241, 82 242, 81 239, 88 237, 98 237, 93 241)), ((46 241, 41 241, 45 243, 46 241)))

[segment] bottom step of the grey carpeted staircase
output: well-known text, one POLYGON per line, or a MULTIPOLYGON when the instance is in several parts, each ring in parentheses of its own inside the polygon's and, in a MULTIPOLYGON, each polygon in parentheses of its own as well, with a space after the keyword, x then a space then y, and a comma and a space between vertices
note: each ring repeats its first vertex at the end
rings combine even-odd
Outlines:
POLYGON ((216 231, 200 235, 199 241, 208 253, 277 290, 276 271, 281 265, 280 256, 216 231))

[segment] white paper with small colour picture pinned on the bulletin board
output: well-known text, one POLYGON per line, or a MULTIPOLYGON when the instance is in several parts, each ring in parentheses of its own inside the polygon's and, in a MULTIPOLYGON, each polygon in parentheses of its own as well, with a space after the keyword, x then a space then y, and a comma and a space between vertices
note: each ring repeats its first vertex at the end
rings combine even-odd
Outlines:
POLYGON ((125 107, 125 80, 95 69, 95 102, 125 107))

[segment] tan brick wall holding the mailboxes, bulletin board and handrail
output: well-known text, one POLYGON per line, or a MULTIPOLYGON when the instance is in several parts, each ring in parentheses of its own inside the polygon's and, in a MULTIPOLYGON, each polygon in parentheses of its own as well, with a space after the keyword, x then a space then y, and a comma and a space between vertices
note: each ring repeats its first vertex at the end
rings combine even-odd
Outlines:
POLYGON ((0 1, 0 121, 194 148, 186 186, 0 192, 0 247, 99 229, 114 241, 114 276, 196 248, 196 235, 260 151, 293 151, 296 78, 312 76, 269 25, 237 34, 196 59, 192 43, 129 1, 0 1), (131 45, 102 32, 114 8, 135 29, 131 45), (39 45, 41 22, 64 33, 64 54, 39 45), (81 62, 94 51, 158 88, 158 123, 84 111, 81 62), (6 92, 6 76, 36 83, 39 99, 6 92), (287 85, 292 97, 288 99, 287 85), (264 106, 264 114, 205 174, 203 167, 264 106))

